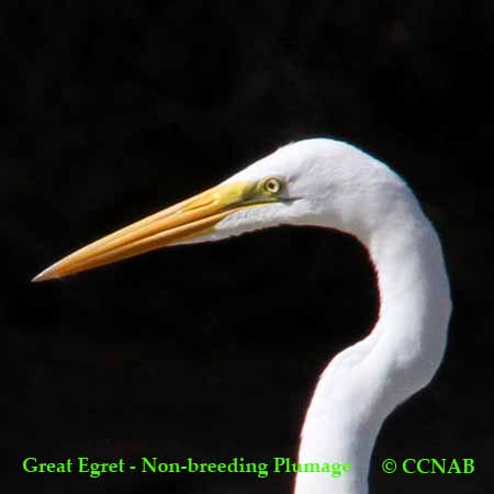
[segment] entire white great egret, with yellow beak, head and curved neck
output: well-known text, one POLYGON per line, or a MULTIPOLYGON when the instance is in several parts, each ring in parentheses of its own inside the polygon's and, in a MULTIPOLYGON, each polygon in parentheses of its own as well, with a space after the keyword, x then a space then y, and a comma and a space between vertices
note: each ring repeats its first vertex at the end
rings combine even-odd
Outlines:
POLYGON ((295 479, 295 494, 364 494, 379 429, 434 377, 451 313, 439 238, 406 183, 382 162, 332 139, 289 144, 220 186, 77 250, 33 281, 282 223, 353 235, 378 273, 378 323, 324 370, 301 435, 300 463, 350 463, 351 470, 337 479, 295 479))

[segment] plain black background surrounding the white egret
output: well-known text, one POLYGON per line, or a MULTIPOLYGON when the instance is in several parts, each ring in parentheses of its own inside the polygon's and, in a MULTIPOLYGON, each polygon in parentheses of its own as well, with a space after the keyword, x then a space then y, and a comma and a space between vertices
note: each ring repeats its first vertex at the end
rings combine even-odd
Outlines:
POLYGON ((386 420, 371 493, 493 491, 492 1, 3 2, 0 188, 15 491, 287 493, 290 475, 26 474, 44 461, 296 457, 317 377, 378 311, 353 239, 282 227, 31 284, 290 141, 396 169, 444 240, 444 364, 386 420), (384 458, 474 458, 385 475, 384 458))

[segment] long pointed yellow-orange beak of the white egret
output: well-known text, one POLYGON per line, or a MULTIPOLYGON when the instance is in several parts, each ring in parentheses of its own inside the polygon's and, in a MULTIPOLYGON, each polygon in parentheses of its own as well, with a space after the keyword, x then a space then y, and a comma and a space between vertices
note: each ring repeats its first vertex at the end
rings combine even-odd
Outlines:
POLYGON ((258 182, 218 186, 76 250, 33 281, 66 277, 199 237, 213 232, 221 220, 236 211, 276 201, 262 193, 258 182))

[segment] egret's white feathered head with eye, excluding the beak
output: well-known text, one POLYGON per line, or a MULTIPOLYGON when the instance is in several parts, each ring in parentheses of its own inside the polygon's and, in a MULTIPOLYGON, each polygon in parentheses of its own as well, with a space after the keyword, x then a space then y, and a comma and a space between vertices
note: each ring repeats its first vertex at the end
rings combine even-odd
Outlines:
POLYGON ((222 187, 237 184, 250 184, 270 200, 234 211, 206 235, 186 243, 280 224, 333 227, 366 240, 367 232, 390 213, 390 202, 407 190, 382 162, 349 144, 326 138, 283 146, 222 187))

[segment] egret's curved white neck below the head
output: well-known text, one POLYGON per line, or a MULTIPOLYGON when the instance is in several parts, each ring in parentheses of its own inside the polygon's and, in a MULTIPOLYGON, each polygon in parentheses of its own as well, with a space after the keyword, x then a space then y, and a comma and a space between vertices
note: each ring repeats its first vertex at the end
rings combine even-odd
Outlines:
POLYGON ((385 417, 424 388, 442 359, 451 311, 436 232, 416 201, 372 234, 357 233, 378 274, 372 333, 325 369, 302 430, 299 463, 349 463, 349 472, 299 473, 295 494, 367 494, 375 438, 385 417))

